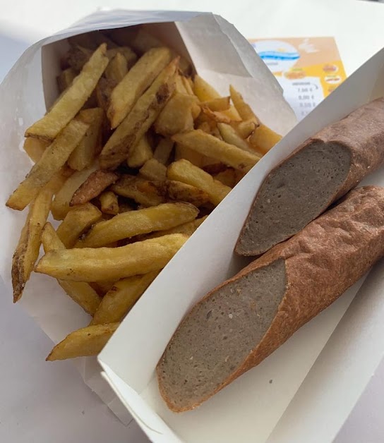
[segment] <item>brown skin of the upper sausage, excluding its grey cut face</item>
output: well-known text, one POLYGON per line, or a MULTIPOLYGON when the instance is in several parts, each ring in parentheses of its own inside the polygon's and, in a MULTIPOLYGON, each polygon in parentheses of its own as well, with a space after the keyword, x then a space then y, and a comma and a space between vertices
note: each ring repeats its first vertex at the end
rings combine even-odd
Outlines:
MULTIPOLYGON (((253 212, 256 211, 261 190, 282 164, 292 159, 299 151, 311 148, 311 145, 318 143, 341 145, 348 150, 350 160, 347 177, 323 207, 319 207, 317 216, 325 211, 332 202, 341 198, 364 177, 384 163, 384 98, 373 100, 373 102, 356 109, 344 119, 323 128, 297 147, 292 154, 270 171, 258 191, 243 229, 241 229, 239 241, 236 243, 236 253, 239 255, 259 255, 265 252, 265 250, 260 251, 251 245, 247 245, 246 240, 246 233, 253 223, 252 216, 253 212)), ((281 214, 281 216, 289 217, 289 214, 281 214)), ((273 245, 276 243, 279 242, 275 241, 273 245)))

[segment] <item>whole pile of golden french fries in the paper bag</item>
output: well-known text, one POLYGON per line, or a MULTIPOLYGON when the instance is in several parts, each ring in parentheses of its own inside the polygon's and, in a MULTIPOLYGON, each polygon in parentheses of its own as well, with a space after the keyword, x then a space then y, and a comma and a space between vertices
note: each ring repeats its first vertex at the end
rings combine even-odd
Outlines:
POLYGON ((188 236, 281 138, 234 87, 221 97, 143 27, 68 42, 60 95, 25 133, 35 164, 6 203, 29 208, 13 255, 14 301, 35 270, 92 316, 47 360, 99 353, 188 236))

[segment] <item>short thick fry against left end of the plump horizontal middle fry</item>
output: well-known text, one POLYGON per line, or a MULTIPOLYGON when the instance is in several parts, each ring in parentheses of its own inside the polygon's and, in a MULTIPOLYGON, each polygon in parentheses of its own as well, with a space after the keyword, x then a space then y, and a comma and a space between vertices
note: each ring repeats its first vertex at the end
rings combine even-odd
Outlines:
POLYGON ((102 213, 91 203, 76 206, 57 228, 57 236, 66 248, 72 248, 78 238, 101 217, 102 213))

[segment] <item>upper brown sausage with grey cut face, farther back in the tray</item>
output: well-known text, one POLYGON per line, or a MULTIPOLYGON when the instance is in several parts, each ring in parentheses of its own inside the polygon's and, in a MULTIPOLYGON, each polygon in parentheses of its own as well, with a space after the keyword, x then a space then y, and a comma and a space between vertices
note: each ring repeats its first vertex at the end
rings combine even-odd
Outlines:
POLYGON ((268 174, 236 253, 260 255, 287 240, 383 162, 381 98, 313 135, 268 174))

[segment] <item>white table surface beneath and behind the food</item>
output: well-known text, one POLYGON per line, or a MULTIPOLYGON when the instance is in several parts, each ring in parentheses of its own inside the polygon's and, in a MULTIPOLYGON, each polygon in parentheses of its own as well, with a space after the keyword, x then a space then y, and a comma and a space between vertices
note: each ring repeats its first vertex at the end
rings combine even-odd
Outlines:
MULTIPOLYGON (((384 44, 384 5, 358 0, 0 0, 0 80, 30 43, 102 6, 213 11, 250 38, 334 35, 348 74, 384 44)), ((46 363, 51 347, 0 281, 0 442, 148 442, 135 423, 121 425, 70 362, 46 363)), ((335 442, 384 442, 383 399, 384 362, 335 442)))

